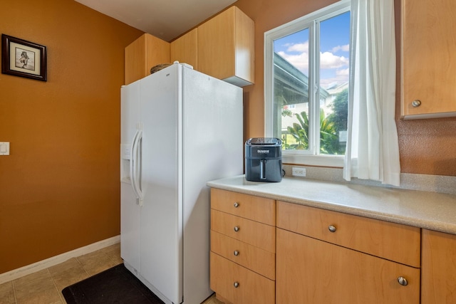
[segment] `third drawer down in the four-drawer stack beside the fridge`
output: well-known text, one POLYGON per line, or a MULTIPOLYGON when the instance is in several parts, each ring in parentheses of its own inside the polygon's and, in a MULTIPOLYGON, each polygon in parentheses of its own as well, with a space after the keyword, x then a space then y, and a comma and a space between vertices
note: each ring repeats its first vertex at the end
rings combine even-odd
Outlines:
POLYGON ((276 255, 211 230, 211 251, 271 280, 276 278, 276 255))

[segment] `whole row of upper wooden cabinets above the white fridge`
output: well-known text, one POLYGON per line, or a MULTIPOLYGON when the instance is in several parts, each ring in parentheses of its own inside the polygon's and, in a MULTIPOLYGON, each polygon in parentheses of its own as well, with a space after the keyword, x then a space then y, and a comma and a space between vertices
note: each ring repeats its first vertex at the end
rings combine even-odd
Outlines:
POLYGON ((239 87, 254 83, 254 21, 232 6, 168 43, 148 33, 125 48, 125 85, 162 63, 195 70, 239 87))

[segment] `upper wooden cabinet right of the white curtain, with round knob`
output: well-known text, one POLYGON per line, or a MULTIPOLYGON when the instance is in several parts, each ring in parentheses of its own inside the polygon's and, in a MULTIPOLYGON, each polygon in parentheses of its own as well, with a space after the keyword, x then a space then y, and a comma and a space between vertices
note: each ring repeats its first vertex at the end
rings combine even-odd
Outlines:
POLYGON ((402 1, 404 119, 456 116, 455 0, 402 1))

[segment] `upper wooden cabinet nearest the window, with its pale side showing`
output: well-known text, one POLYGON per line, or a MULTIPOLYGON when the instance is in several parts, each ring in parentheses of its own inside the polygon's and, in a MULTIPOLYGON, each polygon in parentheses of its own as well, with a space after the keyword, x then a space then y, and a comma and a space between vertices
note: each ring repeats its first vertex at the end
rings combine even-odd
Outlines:
POLYGON ((254 21, 236 6, 198 26, 198 70, 238 86, 254 83, 254 21))

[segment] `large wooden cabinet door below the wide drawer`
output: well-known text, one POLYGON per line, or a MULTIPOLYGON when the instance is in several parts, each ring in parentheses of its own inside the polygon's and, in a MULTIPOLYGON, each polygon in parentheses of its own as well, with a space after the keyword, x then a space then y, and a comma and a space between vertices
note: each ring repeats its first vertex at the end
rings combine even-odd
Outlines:
POLYGON ((276 234, 276 303, 420 303, 419 268, 283 229, 276 234))

